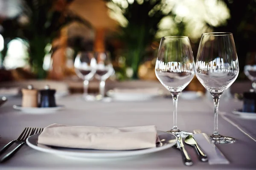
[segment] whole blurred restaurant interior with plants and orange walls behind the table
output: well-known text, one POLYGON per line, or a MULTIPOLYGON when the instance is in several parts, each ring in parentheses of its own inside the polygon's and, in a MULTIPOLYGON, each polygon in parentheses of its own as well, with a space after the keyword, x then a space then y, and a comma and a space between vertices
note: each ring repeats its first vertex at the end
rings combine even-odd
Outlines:
MULTIPOLYGON (((234 85, 246 81, 249 90, 243 68, 256 56, 255 23, 255 0, 0 0, 0 82, 46 79, 82 93, 74 60, 94 51, 111 58, 114 74, 106 86, 159 84, 154 65, 161 37, 188 36, 196 58, 202 33, 231 32, 240 68, 234 85)), ((97 93, 98 84, 90 81, 89 92, 97 93)), ((194 78, 185 91, 205 89, 194 78)))

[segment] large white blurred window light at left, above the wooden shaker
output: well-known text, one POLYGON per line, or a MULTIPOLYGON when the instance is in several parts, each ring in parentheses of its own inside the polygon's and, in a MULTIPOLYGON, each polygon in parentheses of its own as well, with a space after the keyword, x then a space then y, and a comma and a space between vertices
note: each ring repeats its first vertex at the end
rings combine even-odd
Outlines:
POLYGON ((8 51, 3 61, 6 69, 15 69, 29 65, 28 46, 21 39, 14 39, 8 44, 8 51))

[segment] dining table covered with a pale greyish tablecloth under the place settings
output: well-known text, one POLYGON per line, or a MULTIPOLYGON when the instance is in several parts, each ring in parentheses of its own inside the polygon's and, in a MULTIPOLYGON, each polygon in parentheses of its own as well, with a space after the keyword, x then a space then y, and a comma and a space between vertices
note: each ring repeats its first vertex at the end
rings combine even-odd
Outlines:
MULTIPOLYGON (((170 96, 159 96, 144 101, 104 100, 86 102, 80 94, 57 99, 64 109, 55 113, 23 113, 13 108, 21 98, 9 98, 0 107, 0 147, 17 139, 25 127, 46 127, 53 123, 73 126, 132 127, 156 125, 157 130, 167 131, 173 125, 173 104, 170 96)), ((0 164, 0 170, 233 170, 256 168, 256 119, 242 119, 232 113, 240 109, 242 101, 220 99, 219 133, 236 139, 232 144, 216 144, 230 164, 209 165, 201 162, 193 147, 185 144, 193 165, 185 166, 180 151, 170 147, 141 156, 109 159, 65 158, 34 150, 27 145, 8 161, 0 164)), ((182 99, 177 104, 177 125, 193 132, 213 133, 213 101, 201 97, 182 99)), ((15 147, 15 146, 14 146, 15 147)))

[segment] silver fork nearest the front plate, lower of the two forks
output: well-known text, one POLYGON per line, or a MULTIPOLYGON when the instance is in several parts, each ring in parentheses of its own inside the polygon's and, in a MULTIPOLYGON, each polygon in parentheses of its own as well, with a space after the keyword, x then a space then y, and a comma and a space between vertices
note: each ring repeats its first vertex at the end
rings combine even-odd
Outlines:
POLYGON ((32 136, 32 135, 34 135, 36 133, 41 133, 44 130, 44 128, 40 128, 40 129, 39 128, 32 128, 32 131, 31 131, 31 127, 30 128, 28 127, 27 130, 26 130, 26 133, 24 135, 23 134, 21 135, 23 137, 22 138, 19 137, 20 140, 17 140, 18 142, 21 142, 21 143, 17 147, 15 147, 14 150, 12 150, 11 152, 9 152, 5 156, 3 156, 3 158, 0 160, 0 163, 9 160, 20 149, 20 147, 22 147, 22 145, 26 143, 26 139, 29 136, 32 136), (29 132, 27 133, 28 129, 29 129, 29 132), (30 131, 31 131, 31 133, 30 133, 30 131))

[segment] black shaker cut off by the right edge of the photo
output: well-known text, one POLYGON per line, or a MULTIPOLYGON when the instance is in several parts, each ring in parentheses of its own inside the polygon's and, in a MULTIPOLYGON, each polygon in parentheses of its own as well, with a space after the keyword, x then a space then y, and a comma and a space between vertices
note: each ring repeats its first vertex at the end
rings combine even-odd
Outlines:
POLYGON ((256 93, 245 92, 243 99, 243 112, 256 113, 256 93))

